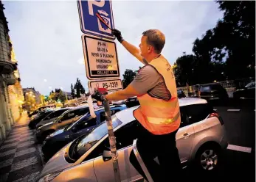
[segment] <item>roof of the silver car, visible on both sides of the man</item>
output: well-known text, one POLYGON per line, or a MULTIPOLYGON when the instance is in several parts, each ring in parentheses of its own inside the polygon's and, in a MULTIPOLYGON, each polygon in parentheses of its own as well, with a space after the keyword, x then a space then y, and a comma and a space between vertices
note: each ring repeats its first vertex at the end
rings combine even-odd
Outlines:
MULTIPOLYGON (((201 98, 179 98, 179 106, 188 106, 188 105, 201 104, 201 103, 207 103, 207 101, 201 98)), ((116 117, 120 121, 122 121, 122 123, 129 123, 132 120, 135 120, 133 112, 138 107, 139 106, 134 106, 134 107, 122 110, 120 112, 117 112, 116 117)))

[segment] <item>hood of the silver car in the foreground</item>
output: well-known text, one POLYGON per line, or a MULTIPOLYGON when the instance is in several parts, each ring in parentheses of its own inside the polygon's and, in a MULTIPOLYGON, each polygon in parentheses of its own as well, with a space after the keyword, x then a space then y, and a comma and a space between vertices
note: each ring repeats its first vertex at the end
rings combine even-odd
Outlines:
POLYGON ((51 159, 49 159, 49 161, 44 166, 44 169, 41 171, 41 174, 40 174, 41 178, 44 177, 45 175, 49 175, 52 172, 65 170, 66 168, 71 167, 73 165, 72 163, 68 163, 65 160, 65 156, 64 156, 66 152, 66 148, 68 148, 69 145, 71 145, 71 142, 67 144, 65 147, 63 147, 62 149, 60 149, 58 153, 55 153, 55 155, 52 156, 51 159))

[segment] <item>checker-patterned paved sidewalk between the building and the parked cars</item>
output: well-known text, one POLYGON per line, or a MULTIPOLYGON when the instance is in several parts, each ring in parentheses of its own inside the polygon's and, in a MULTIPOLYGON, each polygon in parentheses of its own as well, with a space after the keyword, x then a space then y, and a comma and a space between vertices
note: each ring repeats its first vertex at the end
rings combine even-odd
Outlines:
POLYGON ((0 145, 1 182, 35 182, 43 168, 35 131, 28 124, 24 113, 0 145))

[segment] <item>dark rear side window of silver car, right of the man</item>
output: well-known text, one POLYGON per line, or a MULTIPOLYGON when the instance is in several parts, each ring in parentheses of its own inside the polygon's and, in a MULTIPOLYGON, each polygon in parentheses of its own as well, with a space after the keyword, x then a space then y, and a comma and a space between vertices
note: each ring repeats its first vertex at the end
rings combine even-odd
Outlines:
POLYGON ((181 107, 181 122, 182 126, 197 123, 204 120, 213 112, 212 106, 208 103, 193 104, 181 107))

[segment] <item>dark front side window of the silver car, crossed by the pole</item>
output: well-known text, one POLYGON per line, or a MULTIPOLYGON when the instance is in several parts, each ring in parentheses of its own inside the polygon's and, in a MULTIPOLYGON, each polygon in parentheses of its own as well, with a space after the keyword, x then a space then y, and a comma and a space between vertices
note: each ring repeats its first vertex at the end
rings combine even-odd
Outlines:
MULTIPOLYGON (((116 137, 116 146, 117 150, 121 148, 126 148, 133 144, 134 139, 136 139, 136 126, 138 125, 137 121, 134 120, 127 125, 123 125, 117 131, 114 132, 116 137)), ((104 150, 110 150, 108 137, 104 139, 100 145, 97 146, 90 154, 86 157, 85 161, 89 159, 96 158, 103 155, 104 150)))

